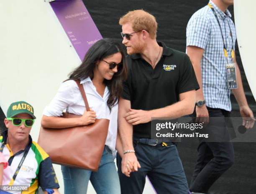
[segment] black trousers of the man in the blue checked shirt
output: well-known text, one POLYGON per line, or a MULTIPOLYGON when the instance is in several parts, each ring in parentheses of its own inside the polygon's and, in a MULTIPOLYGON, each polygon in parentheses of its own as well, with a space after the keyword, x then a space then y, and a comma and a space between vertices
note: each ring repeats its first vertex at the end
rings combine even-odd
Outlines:
MULTIPOLYGON (((209 117, 230 117, 230 112, 223 109, 208 107, 207 109, 209 117)), ((195 117, 195 112, 193 116, 195 117)), ((225 132, 223 134, 229 134, 227 122, 224 119, 218 121, 215 126, 209 127, 210 130, 216 129, 225 132)), ((198 159, 189 189, 191 192, 207 193, 212 184, 233 165, 233 144, 231 142, 201 142, 197 151, 198 159)))

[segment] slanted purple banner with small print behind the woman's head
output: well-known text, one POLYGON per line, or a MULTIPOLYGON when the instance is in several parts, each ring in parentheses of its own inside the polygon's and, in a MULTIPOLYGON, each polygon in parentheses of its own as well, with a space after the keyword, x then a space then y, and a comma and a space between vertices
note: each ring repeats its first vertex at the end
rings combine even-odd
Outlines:
POLYGON ((55 0, 50 3, 81 60, 102 36, 82 0, 55 0))

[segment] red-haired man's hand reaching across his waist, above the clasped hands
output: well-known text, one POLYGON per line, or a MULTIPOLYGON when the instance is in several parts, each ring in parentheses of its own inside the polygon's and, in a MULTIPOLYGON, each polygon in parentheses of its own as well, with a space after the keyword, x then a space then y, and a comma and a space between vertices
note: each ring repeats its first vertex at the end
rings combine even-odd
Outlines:
POLYGON ((147 123, 151 121, 150 111, 146 110, 136 110, 136 109, 129 109, 124 115, 124 118, 128 123, 132 125, 147 123))

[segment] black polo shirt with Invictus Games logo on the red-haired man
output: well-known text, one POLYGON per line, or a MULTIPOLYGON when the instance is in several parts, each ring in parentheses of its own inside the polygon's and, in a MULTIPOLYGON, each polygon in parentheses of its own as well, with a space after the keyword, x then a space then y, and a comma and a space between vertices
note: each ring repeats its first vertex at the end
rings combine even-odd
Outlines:
MULTIPOLYGON (((199 89, 189 57, 158 42, 163 47, 155 69, 140 54, 128 55, 128 78, 123 82, 122 97, 132 109, 152 110, 179 101, 179 94, 199 89)), ((133 126, 136 137, 151 138, 151 122, 133 126)))

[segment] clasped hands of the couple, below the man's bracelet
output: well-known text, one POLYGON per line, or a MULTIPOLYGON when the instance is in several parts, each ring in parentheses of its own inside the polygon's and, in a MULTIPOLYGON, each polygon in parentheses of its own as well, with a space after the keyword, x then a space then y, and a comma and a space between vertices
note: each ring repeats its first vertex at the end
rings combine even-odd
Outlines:
POLYGON ((122 173, 125 174, 126 177, 130 177, 130 173, 134 171, 138 171, 138 168, 141 168, 141 165, 138 162, 134 152, 123 155, 122 173))

